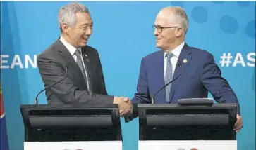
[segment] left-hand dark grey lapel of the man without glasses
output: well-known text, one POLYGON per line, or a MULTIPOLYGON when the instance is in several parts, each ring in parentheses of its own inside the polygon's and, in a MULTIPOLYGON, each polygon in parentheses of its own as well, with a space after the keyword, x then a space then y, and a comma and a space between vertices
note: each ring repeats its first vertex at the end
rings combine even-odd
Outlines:
POLYGON ((73 73, 73 76, 75 77, 74 79, 78 79, 78 80, 82 79, 80 81, 82 81, 83 86, 85 87, 85 89, 87 89, 85 80, 83 80, 84 79, 83 74, 80 71, 78 64, 75 62, 71 53, 68 52, 67 48, 63 45, 63 43, 61 43, 59 39, 56 41, 56 43, 57 43, 56 46, 59 48, 58 51, 61 57, 63 57, 63 60, 68 63, 69 72, 75 71, 76 73, 75 72, 73 73))

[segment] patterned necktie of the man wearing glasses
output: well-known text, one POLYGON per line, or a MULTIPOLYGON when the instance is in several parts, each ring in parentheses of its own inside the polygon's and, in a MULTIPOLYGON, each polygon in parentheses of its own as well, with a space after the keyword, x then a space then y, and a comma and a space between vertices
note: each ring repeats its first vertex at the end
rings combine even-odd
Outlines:
MULTIPOLYGON (((166 57, 167 57, 167 63, 166 63, 166 72, 165 72, 165 79, 164 79, 165 84, 169 83, 173 79, 173 69, 171 64, 171 57, 173 57, 173 53, 167 53, 166 57)), ((165 88, 167 102, 169 102, 170 90, 171 90, 171 83, 165 88)))

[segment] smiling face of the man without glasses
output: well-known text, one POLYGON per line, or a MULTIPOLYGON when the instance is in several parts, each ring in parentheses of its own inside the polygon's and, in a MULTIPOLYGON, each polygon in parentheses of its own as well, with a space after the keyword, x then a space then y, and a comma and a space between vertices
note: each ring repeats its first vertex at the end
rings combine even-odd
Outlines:
POLYGON ((75 25, 69 26, 65 23, 62 25, 66 40, 75 48, 83 48, 92 34, 92 18, 90 13, 76 13, 75 25))

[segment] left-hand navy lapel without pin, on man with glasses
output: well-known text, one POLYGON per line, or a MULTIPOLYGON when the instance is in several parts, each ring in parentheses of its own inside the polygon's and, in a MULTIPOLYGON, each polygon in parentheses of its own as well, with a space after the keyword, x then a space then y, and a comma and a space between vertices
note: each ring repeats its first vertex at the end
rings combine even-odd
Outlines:
MULTIPOLYGON (((155 60, 154 60, 154 64, 155 64, 155 74, 157 74, 156 76, 156 81, 155 82, 157 85, 157 90, 159 90, 160 88, 164 87, 164 50, 159 51, 159 53, 157 53, 155 60)), ((157 92, 157 91, 155 91, 157 92)), ((157 94, 157 103, 159 104, 164 104, 166 103, 166 92, 165 90, 161 90, 159 91, 159 93, 157 94)))

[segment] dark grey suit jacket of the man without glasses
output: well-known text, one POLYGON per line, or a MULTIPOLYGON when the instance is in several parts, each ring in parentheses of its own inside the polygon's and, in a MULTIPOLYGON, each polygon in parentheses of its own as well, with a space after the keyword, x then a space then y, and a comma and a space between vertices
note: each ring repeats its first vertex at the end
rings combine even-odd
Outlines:
POLYGON ((114 97, 106 92, 97 50, 86 46, 82 48, 82 55, 90 93, 78 64, 59 39, 38 56, 37 65, 45 88, 63 78, 68 67, 66 78, 46 90, 48 104, 113 104, 114 97))

